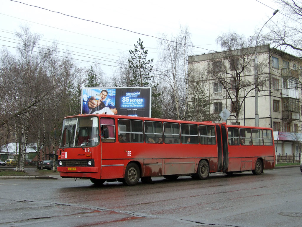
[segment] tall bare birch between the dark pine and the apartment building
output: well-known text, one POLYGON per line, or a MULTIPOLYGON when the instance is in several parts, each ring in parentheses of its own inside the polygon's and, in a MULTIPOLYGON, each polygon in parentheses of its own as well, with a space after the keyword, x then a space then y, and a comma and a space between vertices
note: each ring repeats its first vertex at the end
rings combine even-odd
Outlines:
POLYGON ((162 35, 159 42, 162 61, 160 79, 165 83, 167 99, 164 106, 169 113, 167 118, 183 120, 187 118, 188 110, 188 69, 187 59, 191 53, 191 39, 188 28, 181 28, 177 37, 168 38, 162 35))

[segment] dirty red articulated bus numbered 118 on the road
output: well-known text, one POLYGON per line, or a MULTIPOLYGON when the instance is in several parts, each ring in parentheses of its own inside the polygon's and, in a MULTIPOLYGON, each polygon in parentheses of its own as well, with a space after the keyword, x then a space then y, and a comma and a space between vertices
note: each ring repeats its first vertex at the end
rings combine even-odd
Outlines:
POLYGON ((271 128, 91 114, 63 121, 58 167, 63 178, 135 185, 153 176, 207 179, 209 173, 275 165, 271 128))

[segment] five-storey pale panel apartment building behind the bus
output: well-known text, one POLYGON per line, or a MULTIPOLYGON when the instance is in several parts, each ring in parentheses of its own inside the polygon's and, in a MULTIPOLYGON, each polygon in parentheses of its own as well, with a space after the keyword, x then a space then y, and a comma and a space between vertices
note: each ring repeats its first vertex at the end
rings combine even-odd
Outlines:
POLYGON ((258 100, 259 126, 273 128, 276 153, 300 153, 301 58, 263 45, 189 56, 188 69, 189 86, 198 81, 209 96, 210 114, 226 108, 227 124, 237 115, 238 124, 255 126, 258 100))

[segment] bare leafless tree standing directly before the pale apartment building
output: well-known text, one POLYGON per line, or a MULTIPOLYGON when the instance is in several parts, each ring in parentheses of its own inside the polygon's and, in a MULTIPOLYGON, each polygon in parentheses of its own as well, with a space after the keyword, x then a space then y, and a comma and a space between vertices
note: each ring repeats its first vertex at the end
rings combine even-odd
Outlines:
POLYGON ((255 87, 259 89, 264 86, 268 76, 262 75, 265 65, 259 64, 259 73, 254 80, 251 68, 256 48, 252 47, 252 39, 246 39, 237 33, 224 33, 217 38, 217 42, 226 51, 212 55, 213 59, 209 61, 207 73, 223 87, 226 97, 231 102, 230 109, 234 112, 231 116, 235 117, 238 124, 245 98, 255 90, 255 87), (252 77, 247 79, 246 75, 252 77))

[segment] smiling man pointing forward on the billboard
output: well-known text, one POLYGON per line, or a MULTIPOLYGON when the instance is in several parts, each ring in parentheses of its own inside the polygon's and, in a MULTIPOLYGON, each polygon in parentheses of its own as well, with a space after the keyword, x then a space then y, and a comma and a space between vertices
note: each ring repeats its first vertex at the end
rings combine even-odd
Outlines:
POLYGON ((92 96, 87 102, 88 113, 89 114, 96 114, 96 113, 107 113, 107 114, 117 114, 117 109, 108 103, 104 103, 108 95, 107 90, 102 90, 100 94, 97 94, 95 97, 92 96))

